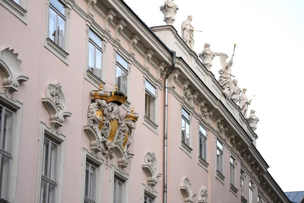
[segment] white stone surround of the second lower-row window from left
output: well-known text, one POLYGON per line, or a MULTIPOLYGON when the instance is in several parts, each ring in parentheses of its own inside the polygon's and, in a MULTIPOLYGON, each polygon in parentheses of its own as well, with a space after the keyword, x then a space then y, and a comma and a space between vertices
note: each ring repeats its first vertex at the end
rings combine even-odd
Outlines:
POLYGON ((42 179, 42 166, 43 166, 43 146, 45 137, 58 144, 57 151, 57 177, 56 177, 56 203, 61 203, 62 197, 62 180, 63 180, 63 164, 65 153, 65 136, 63 134, 54 133, 45 123, 40 123, 39 130, 39 152, 37 164, 37 177, 36 177, 36 197, 35 202, 40 202, 41 196, 41 179, 42 179))

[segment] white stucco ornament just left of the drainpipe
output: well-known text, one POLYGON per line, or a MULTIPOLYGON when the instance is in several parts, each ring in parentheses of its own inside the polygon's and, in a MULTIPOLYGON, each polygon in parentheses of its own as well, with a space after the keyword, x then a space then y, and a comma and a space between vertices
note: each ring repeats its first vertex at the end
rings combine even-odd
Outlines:
POLYGON ((148 151, 145 154, 142 169, 148 177, 148 185, 151 187, 156 186, 158 178, 161 177, 162 174, 158 173, 156 157, 153 151, 148 151))

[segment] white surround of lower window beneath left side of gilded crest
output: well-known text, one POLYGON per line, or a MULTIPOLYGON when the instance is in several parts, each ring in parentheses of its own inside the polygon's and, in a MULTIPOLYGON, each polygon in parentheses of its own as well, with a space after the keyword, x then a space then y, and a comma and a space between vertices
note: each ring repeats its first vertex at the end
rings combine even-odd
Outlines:
POLYGON ((96 199, 95 202, 102 200, 102 179, 103 179, 103 159, 92 155, 86 148, 83 148, 83 161, 82 161, 82 197, 85 198, 85 184, 86 184, 86 162, 96 166, 96 199))

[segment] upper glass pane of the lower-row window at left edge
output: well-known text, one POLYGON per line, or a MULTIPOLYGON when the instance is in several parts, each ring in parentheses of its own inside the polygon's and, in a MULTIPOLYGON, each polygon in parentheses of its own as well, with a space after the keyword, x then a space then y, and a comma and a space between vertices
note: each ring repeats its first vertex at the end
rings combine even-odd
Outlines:
POLYGON ((14 113, 9 109, 5 109, 2 149, 8 152, 11 152, 12 137, 13 137, 13 121, 14 121, 14 113))

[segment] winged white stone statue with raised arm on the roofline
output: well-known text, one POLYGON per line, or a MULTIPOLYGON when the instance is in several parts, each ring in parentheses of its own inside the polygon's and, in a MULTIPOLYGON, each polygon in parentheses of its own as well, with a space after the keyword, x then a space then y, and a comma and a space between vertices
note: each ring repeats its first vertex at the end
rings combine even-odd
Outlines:
POLYGON ((214 54, 219 56, 220 63, 223 67, 218 71, 220 75, 218 82, 225 89, 227 88, 231 80, 231 76, 235 77, 234 75, 231 74, 231 66, 233 64, 234 54, 232 54, 232 57, 229 62, 226 62, 226 59, 228 58, 227 54, 224 53, 214 53, 214 54))

